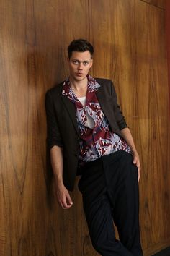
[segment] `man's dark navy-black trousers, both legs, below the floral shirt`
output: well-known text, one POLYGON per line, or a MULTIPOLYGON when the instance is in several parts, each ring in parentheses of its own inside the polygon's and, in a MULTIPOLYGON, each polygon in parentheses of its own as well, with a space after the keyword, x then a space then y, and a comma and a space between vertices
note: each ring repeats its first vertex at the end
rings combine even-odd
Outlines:
POLYGON ((120 150, 86 163, 81 172, 78 187, 94 249, 102 256, 143 255, 133 156, 120 150), (113 221, 120 240, 115 239, 113 221))

